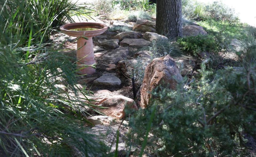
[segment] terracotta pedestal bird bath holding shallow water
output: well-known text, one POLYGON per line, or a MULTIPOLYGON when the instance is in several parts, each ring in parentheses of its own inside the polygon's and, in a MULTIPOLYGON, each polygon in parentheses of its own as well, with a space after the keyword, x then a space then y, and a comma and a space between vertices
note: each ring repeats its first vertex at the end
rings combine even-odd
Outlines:
MULTIPOLYGON (((108 26, 94 22, 79 22, 64 24, 60 30, 69 36, 77 37, 77 65, 82 68, 83 65, 92 65, 95 63, 92 37, 103 34, 108 29, 108 26), (87 40, 82 38, 86 37, 87 40), (86 44, 85 44, 86 43, 86 44)), ((79 74, 93 74, 96 69, 86 67, 81 69, 79 74)))

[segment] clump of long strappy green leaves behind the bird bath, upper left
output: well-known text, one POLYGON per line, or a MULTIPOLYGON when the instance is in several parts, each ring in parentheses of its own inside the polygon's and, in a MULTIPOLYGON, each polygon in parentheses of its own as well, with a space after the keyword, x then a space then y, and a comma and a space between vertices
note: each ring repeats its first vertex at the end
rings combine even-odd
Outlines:
POLYGON ((79 6, 69 0, 1 0, 0 6, 3 6, 1 22, 6 24, 2 28, 4 34, 8 34, 12 43, 28 47, 46 42, 56 26, 74 22, 71 13, 81 13, 79 6))

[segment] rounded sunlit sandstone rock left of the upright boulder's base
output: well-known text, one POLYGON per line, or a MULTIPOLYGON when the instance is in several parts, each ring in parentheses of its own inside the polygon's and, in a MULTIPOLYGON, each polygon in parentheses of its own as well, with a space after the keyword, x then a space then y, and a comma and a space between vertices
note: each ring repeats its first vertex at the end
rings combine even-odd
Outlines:
POLYGON ((98 109, 101 113, 107 116, 115 117, 117 119, 124 118, 125 108, 135 110, 138 109, 134 100, 121 95, 110 97, 107 100, 103 101, 101 105, 102 107, 108 107, 106 109, 98 109))

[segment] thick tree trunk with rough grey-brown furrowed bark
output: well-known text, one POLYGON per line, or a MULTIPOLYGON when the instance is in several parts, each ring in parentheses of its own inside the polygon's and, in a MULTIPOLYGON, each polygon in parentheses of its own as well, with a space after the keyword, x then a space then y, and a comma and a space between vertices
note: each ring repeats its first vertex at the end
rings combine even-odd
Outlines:
POLYGON ((182 37, 182 0, 156 1, 156 33, 174 39, 182 37))

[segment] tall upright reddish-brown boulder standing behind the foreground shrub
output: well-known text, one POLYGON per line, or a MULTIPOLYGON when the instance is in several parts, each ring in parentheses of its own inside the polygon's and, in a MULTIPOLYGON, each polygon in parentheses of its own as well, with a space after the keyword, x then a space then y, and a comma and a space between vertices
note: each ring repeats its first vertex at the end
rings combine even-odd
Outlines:
POLYGON ((143 83, 140 88, 141 108, 146 108, 152 98, 152 91, 159 86, 176 89, 177 83, 182 81, 180 70, 170 55, 155 58, 145 69, 143 83))

